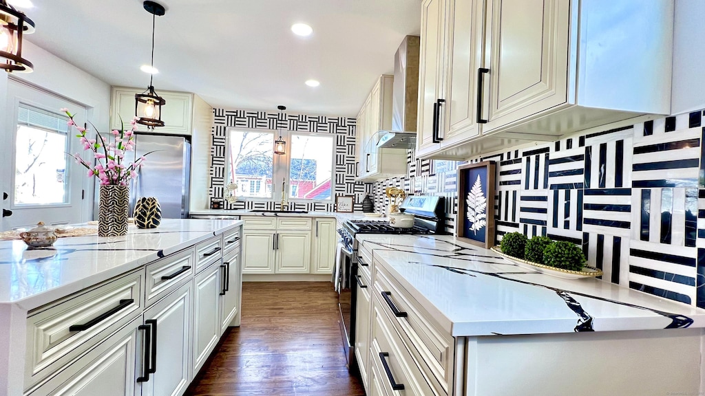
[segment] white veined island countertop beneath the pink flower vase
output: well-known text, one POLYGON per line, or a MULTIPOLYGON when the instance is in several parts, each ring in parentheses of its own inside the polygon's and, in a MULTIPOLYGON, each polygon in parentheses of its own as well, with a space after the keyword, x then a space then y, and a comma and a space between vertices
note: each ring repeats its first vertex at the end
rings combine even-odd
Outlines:
POLYGON ((0 304, 15 303, 26 310, 41 307, 242 223, 163 219, 150 230, 130 224, 123 237, 61 237, 53 247, 41 249, 27 249, 21 240, 0 241, 0 304))

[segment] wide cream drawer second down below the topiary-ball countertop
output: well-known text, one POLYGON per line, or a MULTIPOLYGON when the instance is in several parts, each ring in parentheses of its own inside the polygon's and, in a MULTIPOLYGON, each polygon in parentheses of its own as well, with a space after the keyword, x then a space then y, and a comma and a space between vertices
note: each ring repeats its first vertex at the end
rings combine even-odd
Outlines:
POLYGON ((372 343, 369 349, 371 366, 381 374, 377 385, 390 395, 445 396, 436 392, 424 378, 419 366, 404 347, 398 334, 375 299, 372 311, 372 343))

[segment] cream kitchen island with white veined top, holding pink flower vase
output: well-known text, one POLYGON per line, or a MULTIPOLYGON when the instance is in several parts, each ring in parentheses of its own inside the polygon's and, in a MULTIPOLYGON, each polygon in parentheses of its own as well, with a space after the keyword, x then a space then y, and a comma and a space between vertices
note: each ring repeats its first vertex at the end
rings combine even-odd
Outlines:
POLYGON ((241 225, 0 242, 0 395, 183 394, 239 326, 241 225))

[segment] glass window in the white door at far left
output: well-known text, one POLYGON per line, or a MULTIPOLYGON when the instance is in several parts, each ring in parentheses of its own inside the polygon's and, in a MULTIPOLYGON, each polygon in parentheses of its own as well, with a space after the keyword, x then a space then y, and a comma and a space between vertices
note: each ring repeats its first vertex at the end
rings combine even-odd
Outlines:
POLYGON ((68 202, 68 118, 20 104, 15 204, 68 202))

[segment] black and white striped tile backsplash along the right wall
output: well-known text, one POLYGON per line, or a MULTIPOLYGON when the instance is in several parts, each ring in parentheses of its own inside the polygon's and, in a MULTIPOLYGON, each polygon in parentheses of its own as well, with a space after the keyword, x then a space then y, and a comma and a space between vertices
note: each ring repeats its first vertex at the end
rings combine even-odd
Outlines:
MULTIPOLYGON (((696 111, 471 159, 497 163, 497 242, 515 231, 570 241, 604 280, 705 308, 704 117, 696 111)), ((388 186, 443 195, 453 233, 455 171, 412 154, 408 163, 406 177, 374 184, 376 211, 386 209, 388 186)))

